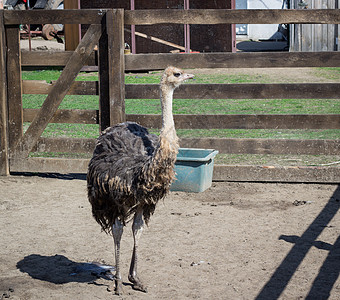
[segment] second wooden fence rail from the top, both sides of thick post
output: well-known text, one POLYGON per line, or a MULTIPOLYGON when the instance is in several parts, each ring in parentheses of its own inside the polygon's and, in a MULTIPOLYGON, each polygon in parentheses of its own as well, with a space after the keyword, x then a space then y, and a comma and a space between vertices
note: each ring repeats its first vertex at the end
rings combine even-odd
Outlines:
MULTIPOLYGON (((72 51, 22 51, 23 67, 65 66, 72 51)), ((93 55, 88 62, 95 64, 93 55)), ((340 52, 159 53, 125 55, 125 70, 181 68, 310 68, 340 67, 340 52)))

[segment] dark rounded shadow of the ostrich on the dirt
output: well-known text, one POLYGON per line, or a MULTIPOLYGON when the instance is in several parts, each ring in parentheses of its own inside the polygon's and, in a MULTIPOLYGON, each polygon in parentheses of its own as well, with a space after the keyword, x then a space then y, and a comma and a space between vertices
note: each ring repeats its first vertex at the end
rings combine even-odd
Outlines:
POLYGON ((34 279, 55 284, 87 282, 98 278, 112 280, 114 267, 100 263, 74 262, 63 255, 42 256, 31 254, 17 263, 17 268, 34 279))

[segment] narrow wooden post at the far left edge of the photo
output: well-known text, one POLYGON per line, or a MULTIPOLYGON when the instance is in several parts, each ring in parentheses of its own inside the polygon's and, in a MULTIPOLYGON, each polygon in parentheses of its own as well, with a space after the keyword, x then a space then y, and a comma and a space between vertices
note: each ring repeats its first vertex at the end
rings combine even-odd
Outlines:
POLYGON ((9 175, 6 38, 4 11, 0 11, 0 176, 9 175))

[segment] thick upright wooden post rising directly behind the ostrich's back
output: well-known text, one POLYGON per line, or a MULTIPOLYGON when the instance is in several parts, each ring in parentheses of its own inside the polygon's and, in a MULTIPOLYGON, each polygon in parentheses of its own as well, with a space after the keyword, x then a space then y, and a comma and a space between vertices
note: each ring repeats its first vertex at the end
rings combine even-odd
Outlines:
POLYGON ((124 122, 125 62, 124 10, 106 14, 106 34, 99 42, 100 129, 124 122))

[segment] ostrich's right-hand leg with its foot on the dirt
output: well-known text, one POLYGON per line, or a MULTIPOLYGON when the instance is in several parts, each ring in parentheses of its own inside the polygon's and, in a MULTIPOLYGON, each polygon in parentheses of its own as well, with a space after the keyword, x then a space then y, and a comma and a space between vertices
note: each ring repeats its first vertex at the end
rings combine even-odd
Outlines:
POLYGON ((139 209, 133 218, 133 224, 132 224, 132 233, 133 233, 133 240, 134 240, 134 246, 133 246, 133 253, 131 258, 131 264, 130 264, 130 271, 129 271, 129 280, 133 284, 133 288, 142 292, 147 292, 146 287, 143 286, 141 281, 139 280, 137 276, 137 250, 138 250, 138 241, 142 235, 144 226, 143 221, 143 210, 139 209))

